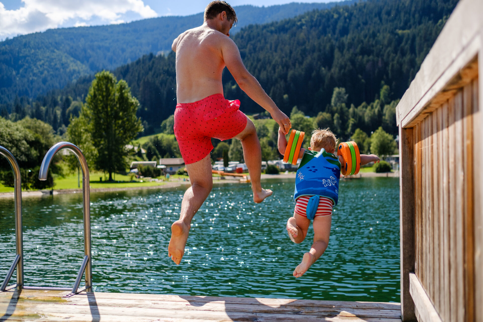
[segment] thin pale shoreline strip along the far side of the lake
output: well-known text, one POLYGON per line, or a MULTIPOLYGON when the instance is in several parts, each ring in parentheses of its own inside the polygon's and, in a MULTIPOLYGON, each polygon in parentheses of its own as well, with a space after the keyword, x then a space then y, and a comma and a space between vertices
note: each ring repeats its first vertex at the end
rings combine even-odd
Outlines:
MULTIPOLYGON (((266 179, 295 179, 295 172, 290 172, 288 174, 279 173, 279 174, 265 174, 262 173, 261 180, 266 179)), ((360 179, 360 178, 375 178, 375 177, 386 177, 386 178, 394 178, 399 177, 399 171, 394 172, 384 172, 384 173, 376 173, 376 172, 364 172, 359 173, 353 176, 342 176, 342 180, 350 180, 350 179, 360 179)), ((219 177, 213 177, 213 185, 215 184, 225 184, 225 183, 248 183, 248 182, 240 182, 236 179, 223 179, 220 180, 219 177)), ((126 188, 90 188, 90 192, 113 192, 113 191, 130 191, 130 190, 148 190, 148 189, 170 189, 170 188, 177 188, 183 185, 189 185, 189 181, 183 182, 165 182, 161 185, 154 185, 154 186, 141 186, 141 187, 126 187, 126 188)), ((52 190, 36 190, 36 191, 22 191, 22 197, 30 197, 30 196, 49 196, 51 195, 52 190)), ((61 190, 53 190, 53 195, 64 195, 64 194, 82 194, 82 189, 61 189, 61 190)), ((13 198, 14 192, 4 192, 0 193, 0 198, 13 198)))

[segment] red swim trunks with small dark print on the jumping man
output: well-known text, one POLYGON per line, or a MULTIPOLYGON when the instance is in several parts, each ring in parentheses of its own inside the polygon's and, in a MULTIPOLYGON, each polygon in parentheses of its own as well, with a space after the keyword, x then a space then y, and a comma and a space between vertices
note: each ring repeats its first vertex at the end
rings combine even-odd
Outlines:
POLYGON ((240 101, 214 94, 194 103, 176 105, 174 135, 185 164, 195 163, 213 150, 211 138, 228 140, 245 129, 247 117, 240 101))

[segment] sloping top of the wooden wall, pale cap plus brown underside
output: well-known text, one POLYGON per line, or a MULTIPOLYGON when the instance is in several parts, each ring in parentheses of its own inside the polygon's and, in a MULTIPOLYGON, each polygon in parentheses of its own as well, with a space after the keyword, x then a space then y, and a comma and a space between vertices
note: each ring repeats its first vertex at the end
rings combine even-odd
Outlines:
POLYGON ((396 108, 398 126, 414 126, 424 112, 430 112, 436 96, 444 98, 440 94, 454 90, 458 80, 478 74, 476 57, 479 52, 483 55, 482 38, 483 1, 461 0, 401 98, 396 108))

